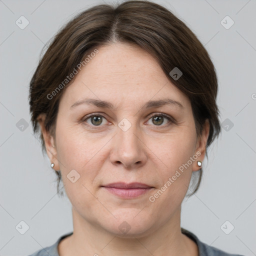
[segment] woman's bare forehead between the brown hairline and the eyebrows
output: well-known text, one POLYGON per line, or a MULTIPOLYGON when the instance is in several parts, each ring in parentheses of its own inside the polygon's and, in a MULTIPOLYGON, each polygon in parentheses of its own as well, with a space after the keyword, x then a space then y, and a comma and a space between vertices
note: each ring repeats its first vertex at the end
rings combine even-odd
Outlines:
POLYGON ((74 103, 81 97, 94 97, 134 104, 149 99, 170 97, 188 102, 186 96, 166 77, 157 61, 138 46, 114 43, 101 46, 98 53, 81 68, 62 95, 74 103))

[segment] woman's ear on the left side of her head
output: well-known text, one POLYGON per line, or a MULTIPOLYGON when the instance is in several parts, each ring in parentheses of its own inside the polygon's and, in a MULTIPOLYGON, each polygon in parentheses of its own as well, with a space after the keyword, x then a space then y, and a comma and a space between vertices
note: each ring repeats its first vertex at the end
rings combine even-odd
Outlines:
POLYGON ((40 114, 37 120, 40 124, 41 132, 43 135, 43 140, 46 148, 46 153, 49 157, 50 163, 52 162, 54 163, 54 167, 53 167, 54 170, 59 170, 60 168, 59 168, 59 162, 57 160, 57 148, 56 148, 53 136, 45 128, 45 117, 46 115, 44 113, 40 114))

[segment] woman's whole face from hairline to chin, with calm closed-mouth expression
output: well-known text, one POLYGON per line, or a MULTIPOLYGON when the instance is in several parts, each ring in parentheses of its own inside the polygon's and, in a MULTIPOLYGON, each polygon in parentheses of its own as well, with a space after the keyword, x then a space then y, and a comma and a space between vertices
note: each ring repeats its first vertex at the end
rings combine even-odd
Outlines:
POLYGON ((175 216, 207 132, 197 139, 189 99, 150 54, 115 43, 66 88, 44 138, 80 221, 139 236, 175 216))

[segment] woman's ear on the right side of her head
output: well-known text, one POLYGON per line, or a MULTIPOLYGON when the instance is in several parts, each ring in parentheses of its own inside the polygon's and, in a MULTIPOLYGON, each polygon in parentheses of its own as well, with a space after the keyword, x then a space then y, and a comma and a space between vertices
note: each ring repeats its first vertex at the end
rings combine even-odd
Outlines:
POLYGON ((193 162, 193 171, 199 170, 201 166, 197 165, 197 161, 203 161, 206 152, 206 143, 209 135, 209 120, 206 119, 203 125, 200 136, 197 137, 194 154, 198 155, 197 159, 193 162))

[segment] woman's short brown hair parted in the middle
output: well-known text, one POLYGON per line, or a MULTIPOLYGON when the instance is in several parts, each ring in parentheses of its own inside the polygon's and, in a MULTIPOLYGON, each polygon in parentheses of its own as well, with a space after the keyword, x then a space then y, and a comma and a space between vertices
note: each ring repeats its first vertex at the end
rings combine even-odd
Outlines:
MULTIPOLYGON (((157 60, 168 79, 189 98, 197 136, 208 119, 207 148, 220 132, 216 105, 218 86, 213 63, 184 22, 165 7, 144 0, 125 1, 117 6, 93 6, 76 15, 54 36, 30 81, 33 131, 39 128, 38 115, 45 113, 44 126, 55 135, 59 100, 71 82, 67 82, 51 99, 47 95, 96 47, 113 42, 135 44, 157 60), (174 67, 182 71, 178 79, 169 74, 174 67)), ((42 133, 40 139, 45 152, 42 133)), ((55 173, 59 186, 61 175, 60 172, 55 173)), ((202 169, 197 173, 197 184, 190 195, 199 187, 202 169)))

